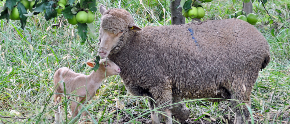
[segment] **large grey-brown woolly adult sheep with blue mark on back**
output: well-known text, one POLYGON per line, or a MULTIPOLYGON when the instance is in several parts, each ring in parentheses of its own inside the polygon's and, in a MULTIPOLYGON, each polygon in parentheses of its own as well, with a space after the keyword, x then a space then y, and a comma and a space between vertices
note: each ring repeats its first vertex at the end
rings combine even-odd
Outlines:
MULTIPOLYGON (((177 115, 171 104, 179 97, 229 99, 234 123, 248 122, 253 85, 270 61, 269 45, 254 26, 223 19, 141 29, 124 9, 100 5, 100 12, 99 55, 120 66, 131 94, 153 98, 150 109, 163 106, 166 124, 177 115)), ((160 119, 151 111, 153 124, 160 119)))

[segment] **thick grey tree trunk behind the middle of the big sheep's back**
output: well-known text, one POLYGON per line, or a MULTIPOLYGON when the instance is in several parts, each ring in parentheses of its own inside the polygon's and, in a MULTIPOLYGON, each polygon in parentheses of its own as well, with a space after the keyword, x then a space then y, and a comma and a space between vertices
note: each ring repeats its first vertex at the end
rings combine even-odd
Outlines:
POLYGON ((184 16, 182 16, 182 8, 178 7, 181 0, 171 0, 170 2, 170 12, 171 12, 171 24, 180 25, 185 24, 184 16), (178 7, 178 8, 177 8, 178 7))

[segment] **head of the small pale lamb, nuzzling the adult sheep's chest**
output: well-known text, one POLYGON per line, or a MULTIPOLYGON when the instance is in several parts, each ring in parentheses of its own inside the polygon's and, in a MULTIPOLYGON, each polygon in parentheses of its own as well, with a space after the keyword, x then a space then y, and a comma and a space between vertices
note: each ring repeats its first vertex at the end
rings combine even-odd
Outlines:
MULTIPOLYGON (((95 66, 94 62, 87 62, 86 64, 90 66, 91 68, 95 66)), ((120 67, 108 58, 101 59, 99 61, 99 64, 100 64, 100 67, 98 70, 106 73, 106 76, 118 75, 121 73, 120 67)))

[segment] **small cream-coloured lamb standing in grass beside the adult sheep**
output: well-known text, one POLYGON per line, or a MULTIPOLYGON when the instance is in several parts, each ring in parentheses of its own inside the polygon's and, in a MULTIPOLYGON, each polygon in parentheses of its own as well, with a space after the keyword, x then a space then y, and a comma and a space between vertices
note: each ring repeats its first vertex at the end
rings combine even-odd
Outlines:
MULTIPOLYGON (((118 75, 121 70, 119 66, 117 66, 114 62, 109 59, 101 59, 100 67, 98 70, 93 71, 90 75, 84 75, 80 73, 75 73, 67 67, 63 67, 57 69, 54 73, 54 86, 55 93, 54 101, 55 105, 57 105, 61 100, 61 93, 64 93, 64 85, 66 94, 73 94, 70 97, 78 97, 75 98, 79 103, 86 103, 96 94, 96 90, 101 86, 102 80, 107 76, 118 75)), ((94 63, 87 62, 87 65, 91 68, 94 67, 94 63)), ((73 112, 73 117, 78 115, 79 110, 81 109, 81 105, 78 105, 77 102, 71 102, 71 112, 73 112)), ((83 116, 87 116, 88 112, 83 112, 83 116)), ((55 123, 60 122, 60 113, 55 113, 55 123)))

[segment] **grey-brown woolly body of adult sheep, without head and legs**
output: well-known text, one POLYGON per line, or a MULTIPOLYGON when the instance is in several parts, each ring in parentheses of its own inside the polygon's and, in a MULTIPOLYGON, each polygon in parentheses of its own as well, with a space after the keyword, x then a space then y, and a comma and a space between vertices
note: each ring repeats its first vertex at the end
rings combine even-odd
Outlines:
POLYGON ((224 19, 145 27, 109 58, 121 68, 134 95, 150 95, 152 87, 170 85, 173 95, 197 98, 235 87, 235 78, 244 77, 252 86, 268 56, 268 44, 255 27, 224 19))

